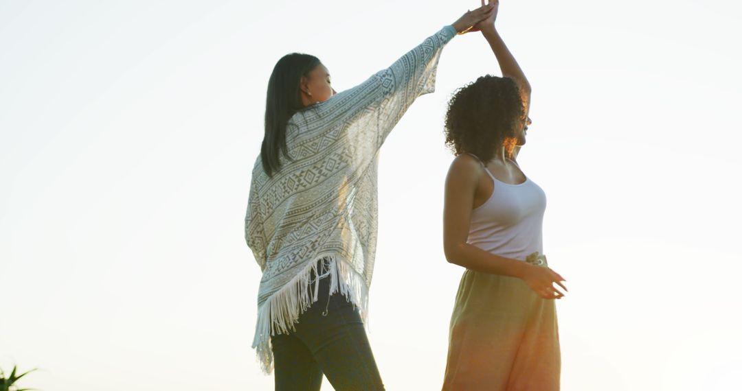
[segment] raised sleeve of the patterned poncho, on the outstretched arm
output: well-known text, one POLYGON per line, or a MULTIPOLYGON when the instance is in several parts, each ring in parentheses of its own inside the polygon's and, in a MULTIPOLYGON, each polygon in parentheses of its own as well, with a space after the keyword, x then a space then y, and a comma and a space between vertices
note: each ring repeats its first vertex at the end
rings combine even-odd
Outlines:
POLYGON ((341 124, 350 144, 365 147, 356 153, 375 155, 413 101, 435 90, 441 51, 453 36, 453 27, 443 27, 390 67, 318 104, 319 116, 326 124, 341 124))

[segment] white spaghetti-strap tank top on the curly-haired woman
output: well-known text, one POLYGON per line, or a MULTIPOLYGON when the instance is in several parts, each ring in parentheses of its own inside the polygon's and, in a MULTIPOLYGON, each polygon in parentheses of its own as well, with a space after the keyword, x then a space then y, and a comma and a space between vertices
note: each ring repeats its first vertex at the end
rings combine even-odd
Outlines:
POLYGON ((494 186, 490 198, 472 210, 467 243, 520 261, 536 251, 543 254, 544 191, 528 176, 520 184, 507 184, 482 167, 494 186))

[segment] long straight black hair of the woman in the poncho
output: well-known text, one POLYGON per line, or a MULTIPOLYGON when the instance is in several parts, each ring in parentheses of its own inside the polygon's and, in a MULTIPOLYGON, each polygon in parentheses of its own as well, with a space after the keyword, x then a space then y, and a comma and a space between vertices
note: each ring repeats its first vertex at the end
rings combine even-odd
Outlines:
POLYGON ((286 124, 304 108, 299 91, 301 77, 308 77, 319 64, 315 56, 291 53, 278 60, 273 68, 266 97, 266 134, 260 147, 263 170, 268 176, 280 170, 280 155, 291 161, 286 151, 286 124))

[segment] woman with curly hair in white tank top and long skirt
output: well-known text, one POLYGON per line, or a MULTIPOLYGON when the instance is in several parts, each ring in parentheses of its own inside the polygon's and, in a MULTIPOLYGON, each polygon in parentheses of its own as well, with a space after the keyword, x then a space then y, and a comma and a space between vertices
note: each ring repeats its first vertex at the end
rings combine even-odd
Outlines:
MULTIPOLYGON (((496 10, 498 1, 491 3, 496 10)), ((531 85, 499 36, 496 16, 475 27, 503 77, 462 87, 446 115, 446 143, 456 158, 445 184, 444 252, 466 271, 450 321, 443 390, 554 391, 554 299, 564 295, 565 280, 542 254, 545 193, 515 161, 531 122, 531 85)))

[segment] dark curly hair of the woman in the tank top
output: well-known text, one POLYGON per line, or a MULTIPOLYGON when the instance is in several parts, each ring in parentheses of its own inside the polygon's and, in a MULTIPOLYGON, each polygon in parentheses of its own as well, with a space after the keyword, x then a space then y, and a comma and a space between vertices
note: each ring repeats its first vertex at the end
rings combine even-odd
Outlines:
POLYGON ((505 147, 512 156, 525 108, 513 78, 482 76, 459 88, 448 101, 444 134, 456 156, 471 153, 492 160, 505 147))

